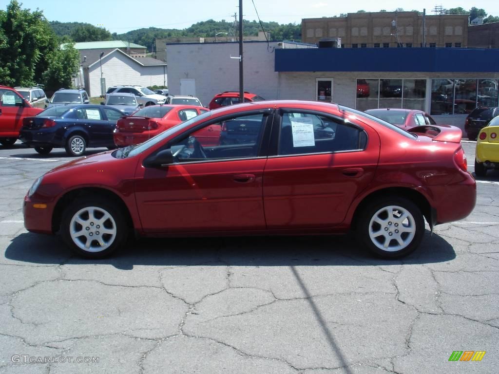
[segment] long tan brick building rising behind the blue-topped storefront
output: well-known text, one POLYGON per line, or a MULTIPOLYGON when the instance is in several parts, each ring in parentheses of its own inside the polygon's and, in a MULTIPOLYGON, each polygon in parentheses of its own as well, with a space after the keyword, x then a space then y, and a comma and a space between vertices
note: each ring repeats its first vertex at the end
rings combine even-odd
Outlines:
MULTIPOLYGON (((426 46, 468 46, 468 15, 426 15, 426 46)), ((348 13, 346 17, 303 18, 301 39, 317 43, 339 37, 341 46, 421 47, 423 15, 417 11, 348 13)))

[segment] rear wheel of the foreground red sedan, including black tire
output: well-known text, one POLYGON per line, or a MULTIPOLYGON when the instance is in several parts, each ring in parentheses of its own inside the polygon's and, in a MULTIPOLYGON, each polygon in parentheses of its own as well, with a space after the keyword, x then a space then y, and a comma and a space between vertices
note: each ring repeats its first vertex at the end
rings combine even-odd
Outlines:
POLYGON ((421 210, 411 200, 397 196, 386 197, 372 201, 363 209, 358 231, 360 233, 359 240, 372 253, 383 258, 397 258, 408 255, 421 244, 425 231, 425 221, 421 210), (388 208, 390 206, 400 210, 388 208), (391 217, 388 216, 389 210, 392 211, 391 217), (399 220, 397 212, 405 212, 409 216, 407 219, 399 220), (385 213, 386 221, 382 221, 385 213), (375 218, 384 223, 377 223, 374 221, 375 218), (406 230, 400 230, 400 228, 406 230), (373 238, 370 235, 371 230, 373 238), (377 233, 379 235, 375 236, 377 233), (402 241, 402 244, 397 238, 402 241), (387 240, 388 244, 386 244, 387 240), (385 245, 388 245, 388 248, 385 249, 385 245), (397 247, 400 248, 397 249, 397 247))

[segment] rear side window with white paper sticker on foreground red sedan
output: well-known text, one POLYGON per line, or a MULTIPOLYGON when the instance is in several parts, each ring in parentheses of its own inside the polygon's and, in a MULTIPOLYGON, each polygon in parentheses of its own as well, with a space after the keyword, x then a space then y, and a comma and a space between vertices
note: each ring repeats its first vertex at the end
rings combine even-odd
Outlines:
POLYGON ((357 151, 366 144, 363 130, 332 118, 299 112, 282 115, 279 155, 357 151))

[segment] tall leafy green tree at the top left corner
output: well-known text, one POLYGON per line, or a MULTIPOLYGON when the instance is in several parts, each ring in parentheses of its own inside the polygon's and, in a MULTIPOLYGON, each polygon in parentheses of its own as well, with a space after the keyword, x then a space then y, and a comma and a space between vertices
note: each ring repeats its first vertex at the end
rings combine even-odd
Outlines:
POLYGON ((34 85, 47 67, 57 39, 39 10, 21 9, 11 0, 0 12, 0 83, 34 85))

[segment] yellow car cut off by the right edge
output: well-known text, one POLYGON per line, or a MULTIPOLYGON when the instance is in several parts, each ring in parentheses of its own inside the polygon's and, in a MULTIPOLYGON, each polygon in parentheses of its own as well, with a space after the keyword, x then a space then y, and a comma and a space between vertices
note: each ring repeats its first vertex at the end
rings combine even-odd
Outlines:
POLYGON ((475 174, 485 177, 487 170, 499 168, 499 117, 489 122, 489 126, 480 130, 477 138, 475 174))

